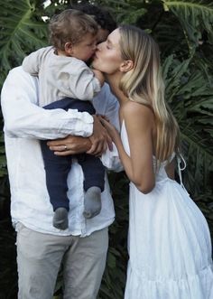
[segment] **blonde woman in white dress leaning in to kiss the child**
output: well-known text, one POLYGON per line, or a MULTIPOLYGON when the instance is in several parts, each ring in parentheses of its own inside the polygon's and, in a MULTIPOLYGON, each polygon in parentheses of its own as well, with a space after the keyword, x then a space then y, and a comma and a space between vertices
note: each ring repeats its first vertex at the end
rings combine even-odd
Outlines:
POLYGON ((172 180, 179 127, 164 101, 157 44, 121 26, 97 46, 93 66, 120 103, 121 135, 102 123, 131 181, 125 299, 213 298, 207 221, 172 180))

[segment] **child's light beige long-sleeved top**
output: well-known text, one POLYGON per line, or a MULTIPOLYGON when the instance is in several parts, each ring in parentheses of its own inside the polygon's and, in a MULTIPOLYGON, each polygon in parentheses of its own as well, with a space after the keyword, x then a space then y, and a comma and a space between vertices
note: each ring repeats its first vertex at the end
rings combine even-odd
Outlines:
POLYGON ((23 60, 23 70, 39 76, 39 106, 61 98, 91 100, 100 91, 100 83, 84 61, 59 56, 53 47, 33 51, 23 60))

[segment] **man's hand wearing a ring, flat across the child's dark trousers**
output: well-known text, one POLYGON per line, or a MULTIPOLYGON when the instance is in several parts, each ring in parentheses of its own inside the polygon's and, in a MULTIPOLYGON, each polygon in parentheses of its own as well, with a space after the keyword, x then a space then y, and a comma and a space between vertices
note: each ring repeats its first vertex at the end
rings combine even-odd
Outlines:
POLYGON ((63 139, 48 141, 51 151, 56 155, 69 155, 85 153, 91 147, 89 138, 69 135, 63 139))

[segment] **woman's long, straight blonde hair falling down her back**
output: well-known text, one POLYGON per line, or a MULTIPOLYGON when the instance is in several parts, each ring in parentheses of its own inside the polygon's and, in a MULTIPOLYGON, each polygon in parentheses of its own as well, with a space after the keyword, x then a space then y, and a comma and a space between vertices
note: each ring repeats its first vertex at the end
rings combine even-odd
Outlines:
POLYGON ((120 89, 131 100, 151 107, 156 124, 155 156, 160 163, 178 153, 179 126, 164 100, 164 83, 160 53, 151 35, 123 25, 119 27, 122 59, 134 61, 134 68, 125 73, 120 89))

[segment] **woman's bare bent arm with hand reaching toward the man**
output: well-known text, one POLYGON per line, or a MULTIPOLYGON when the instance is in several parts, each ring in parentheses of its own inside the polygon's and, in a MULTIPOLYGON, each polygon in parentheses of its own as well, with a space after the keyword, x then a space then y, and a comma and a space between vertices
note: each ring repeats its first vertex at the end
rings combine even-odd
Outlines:
POLYGON ((110 124, 106 129, 116 144, 120 159, 129 180, 140 192, 148 193, 154 187, 153 172, 153 113, 143 105, 128 102, 122 109, 130 146, 126 154, 120 135, 110 124))

